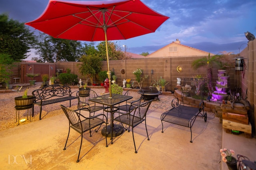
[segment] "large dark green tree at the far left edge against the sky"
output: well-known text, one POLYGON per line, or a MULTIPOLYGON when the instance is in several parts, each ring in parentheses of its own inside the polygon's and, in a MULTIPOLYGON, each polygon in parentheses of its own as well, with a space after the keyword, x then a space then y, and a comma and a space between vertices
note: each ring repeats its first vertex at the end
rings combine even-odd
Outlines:
POLYGON ((24 23, 0 14, 0 54, 8 54, 14 61, 21 61, 28 57, 36 44, 34 32, 30 32, 24 23))

